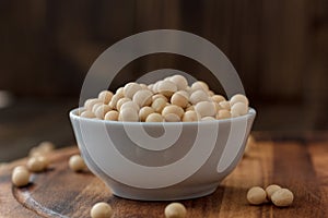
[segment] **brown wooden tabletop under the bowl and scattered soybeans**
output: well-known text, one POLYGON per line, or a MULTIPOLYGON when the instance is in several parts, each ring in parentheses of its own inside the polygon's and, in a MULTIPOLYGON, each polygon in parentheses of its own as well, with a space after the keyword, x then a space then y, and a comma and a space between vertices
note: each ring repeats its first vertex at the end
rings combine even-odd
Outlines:
MULTIPOLYGON (((68 159, 77 153, 77 147, 54 152, 50 168, 33 174, 32 183, 22 189, 12 186, 11 170, 26 159, 1 167, 0 217, 90 217, 99 201, 113 206, 114 217, 164 217, 168 202, 119 198, 92 173, 72 172, 68 159)), ((187 217, 328 217, 328 141, 259 141, 212 195, 181 203, 187 217), (293 191, 292 206, 247 203, 250 186, 271 183, 293 191)))

